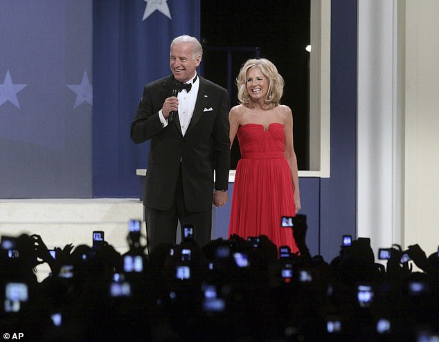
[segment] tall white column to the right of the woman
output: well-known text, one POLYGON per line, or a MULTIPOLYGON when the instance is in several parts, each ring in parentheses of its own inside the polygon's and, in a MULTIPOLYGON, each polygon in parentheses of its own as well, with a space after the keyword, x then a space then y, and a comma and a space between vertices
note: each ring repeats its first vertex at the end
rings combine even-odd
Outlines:
POLYGON ((402 113, 397 0, 358 1, 357 234, 401 243, 402 113))

